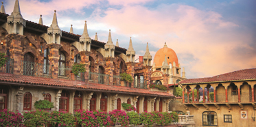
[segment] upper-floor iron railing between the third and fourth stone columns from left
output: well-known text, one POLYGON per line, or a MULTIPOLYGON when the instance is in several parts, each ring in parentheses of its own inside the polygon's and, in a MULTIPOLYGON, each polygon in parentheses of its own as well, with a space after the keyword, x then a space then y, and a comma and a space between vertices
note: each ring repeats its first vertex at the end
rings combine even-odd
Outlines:
POLYGON ((89 72, 89 82, 109 85, 109 75, 89 72))

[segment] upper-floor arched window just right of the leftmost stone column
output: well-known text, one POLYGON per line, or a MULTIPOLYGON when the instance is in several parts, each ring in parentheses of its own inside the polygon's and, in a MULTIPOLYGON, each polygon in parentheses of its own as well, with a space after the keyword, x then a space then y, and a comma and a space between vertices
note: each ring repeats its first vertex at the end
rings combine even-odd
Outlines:
POLYGON ((23 75, 34 75, 34 56, 32 53, 26 53, 23 60, 23 75))

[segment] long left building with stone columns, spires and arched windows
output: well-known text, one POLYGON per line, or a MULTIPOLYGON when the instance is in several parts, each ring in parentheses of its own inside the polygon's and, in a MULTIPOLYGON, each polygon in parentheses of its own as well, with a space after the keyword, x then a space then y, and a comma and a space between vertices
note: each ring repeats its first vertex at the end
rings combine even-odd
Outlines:
MULTIPOLYGON (((78 109, 112 111, 121 109, 122 102, 144 111, 168 111, 175 98, 169 91, 152 91, 151 59, 148 44, 141 62, 135 62, 132 39, 128 49, 113 44, 109 30, 108 41, 89 37, 87 23, 82 35, 62 31, 58 27, 57 12, 51 26, 43 25, 43 18, 34 23, 23 19, 16 0, 9 15, 3 5, 0 13, 0 51, 8 61, 0 72, 0 110, 34 111, 34 102, 54 102, 51 111, 78 109), (73 64, 84 64, 86 72, 77 76, 71 72, 73 64), (121 81, 119 74, 132 76, 132 83, 121 81)), ((165 76, 163 76, 165 78, 165 76)), ((163 85, 167 85, 164 79, 163 85)))

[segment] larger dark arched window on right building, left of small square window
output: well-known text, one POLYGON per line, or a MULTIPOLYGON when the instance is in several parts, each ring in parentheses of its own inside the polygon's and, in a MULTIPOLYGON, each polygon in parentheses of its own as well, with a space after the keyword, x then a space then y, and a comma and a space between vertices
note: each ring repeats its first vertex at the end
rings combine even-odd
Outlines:
POLYGON ((217 113, 215 111, 205 111, 202 113, 202 125, 217 126, 217 113))

